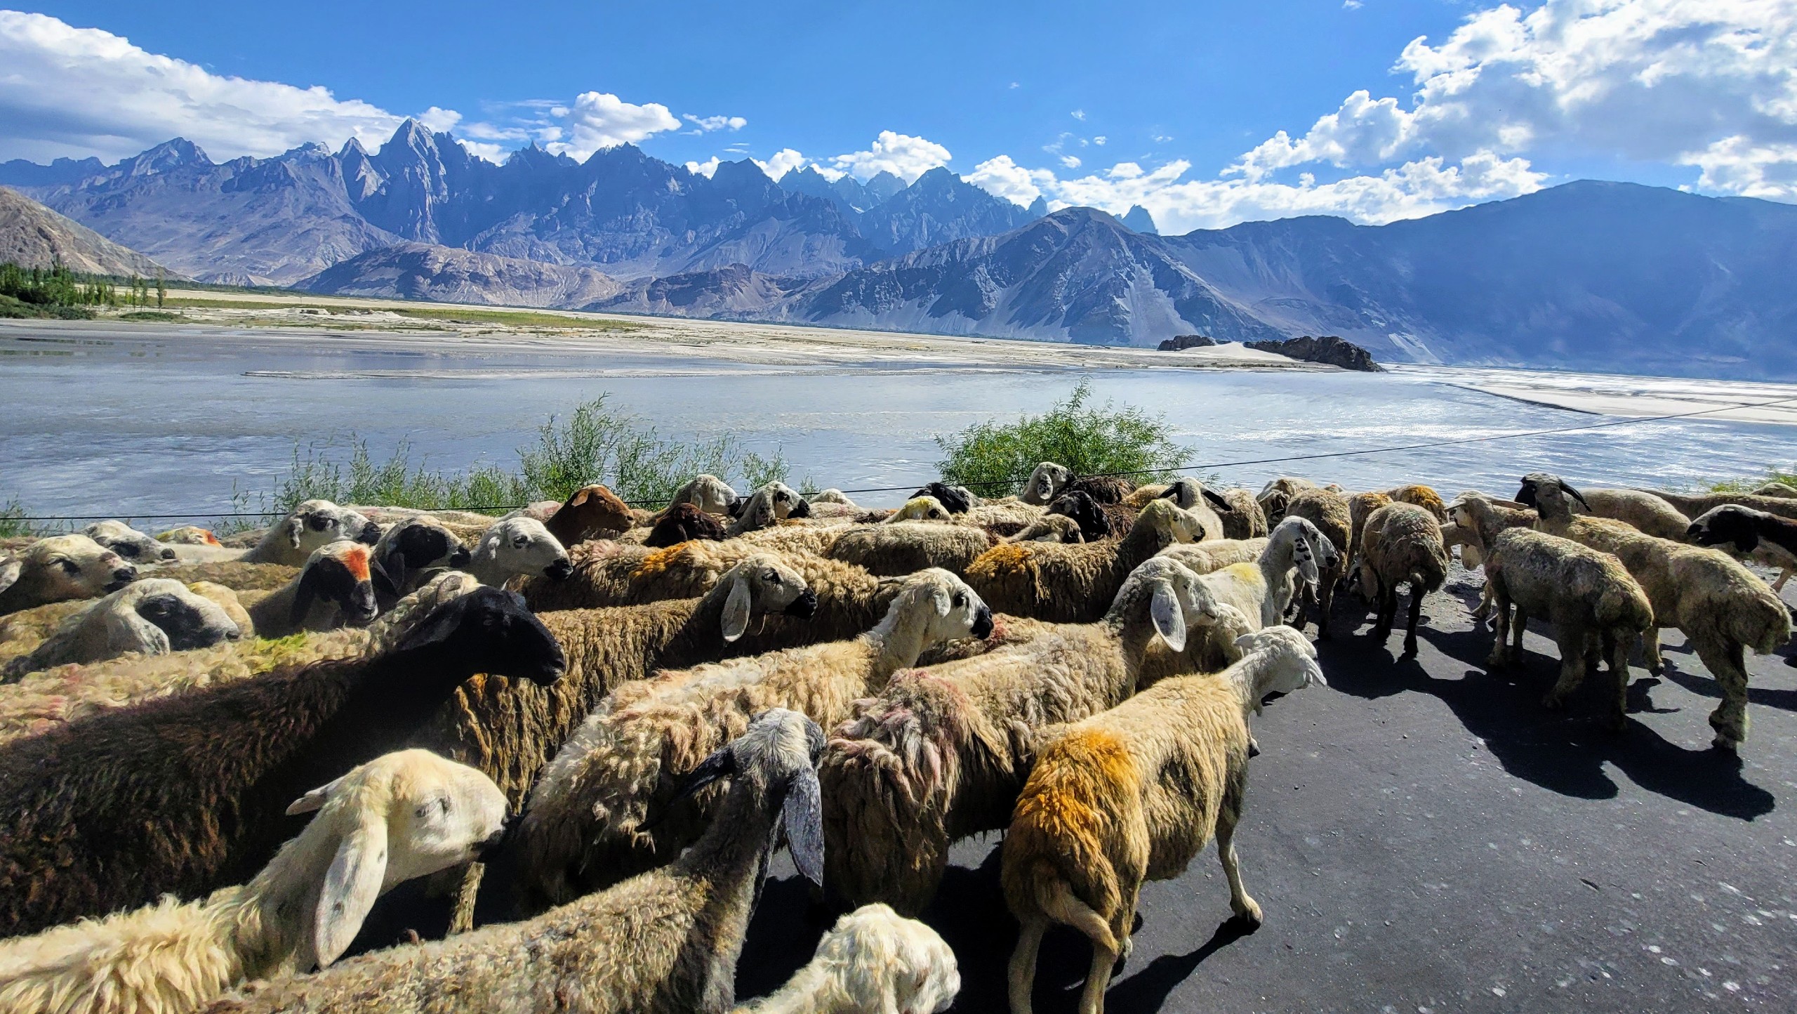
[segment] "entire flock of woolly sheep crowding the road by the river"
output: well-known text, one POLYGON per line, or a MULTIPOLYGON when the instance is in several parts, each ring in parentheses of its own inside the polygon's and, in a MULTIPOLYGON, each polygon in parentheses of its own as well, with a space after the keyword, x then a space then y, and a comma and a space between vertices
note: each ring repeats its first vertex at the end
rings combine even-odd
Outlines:
POLYGON ((20 541, 0 1012, 731 1010, 780 845, 848 915, 748 1010, 943 1010, 954 955, 913 917, 987 831, 1012 1010, 1058 922, 1091 938, 1096 1012, 1143 883, 1213 838, 1260 921, 1233 845, 1249 717, 1324 681, 1301 631, 1332 636, 1337 588, 1384 640, 1409 586, 1414 653, 1457 545, 1492 665, 1535 617, 1562 658, 1545 705, 1605 663, 1617 725, 1633 645, 1659 671, 1678 627, 1736 750, 1743 653, 1792 635, 1739 559, 1783 584, 1793 518, 1788 487, 1536 473, 1443 503, 1044 462, 1021 496, 938 482, 897 511, 697 476, 654 514, 593 485, 505 518, 311 500, 237 547, 119 521, 20 541), (345 958, 417 877, 449 935, 345 958))

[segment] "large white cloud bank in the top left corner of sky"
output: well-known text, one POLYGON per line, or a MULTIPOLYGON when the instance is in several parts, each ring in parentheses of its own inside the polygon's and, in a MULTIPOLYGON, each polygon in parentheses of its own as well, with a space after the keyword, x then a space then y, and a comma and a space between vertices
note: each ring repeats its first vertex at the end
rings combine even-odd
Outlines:
POLYGON ((325 88, 226 77, 106 31, 0 11, 0 158, 111 162, 171 137, 214 158, 352 137, 377 147, 401 119, 325 88))

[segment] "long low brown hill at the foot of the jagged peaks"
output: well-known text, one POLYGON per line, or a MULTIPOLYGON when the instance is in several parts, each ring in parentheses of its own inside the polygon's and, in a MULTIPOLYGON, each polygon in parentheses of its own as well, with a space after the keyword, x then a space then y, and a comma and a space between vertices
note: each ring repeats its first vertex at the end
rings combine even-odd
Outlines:
POLYGON ((420 298, 491 306, 586 306, 615 295, 615 279, 593 268, 401 243, 325 268, 295 288, 354 297, 420 298))

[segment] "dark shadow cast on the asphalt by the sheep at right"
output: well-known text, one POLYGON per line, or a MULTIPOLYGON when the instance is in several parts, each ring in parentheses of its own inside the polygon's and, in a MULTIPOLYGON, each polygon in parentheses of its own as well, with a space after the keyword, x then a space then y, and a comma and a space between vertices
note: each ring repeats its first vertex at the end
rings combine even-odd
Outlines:
MULTIPOLYGON (((1452 611, 1452 602, 1443 604, 1448 608, 1438 606, 1434 613, 1452 611)), ((1668 743, 1639 719, 1630 719, 1623 732, 1603 728, 1601 716, 1612 687, 1607 671, 1590 674, 1565 708, 1553 712, 1540 699, 1556 678, 1558 658, 1551 645, 1547 653, 1540 651, 1542 642, 1535 640, 1533 629, 1529 640, 1535 644, 1524 644, 1522 660, 1492 672, 1484 669, 1484 656, 1493 635, 1470 622, 1454 626, 1461 629, 1420 627, 1425 649, 1418 658, 1393 658, 1391 647, 1375 645, 1371 638, 1339 635, 1323 645, 1330 685, 1364 699, 1405 690, 1438 698, 1466 732, 1484 741, 1508 773, 1560 795, 1616 798, 1621 789, 1603 769, 1614 764, 1646 791, 1716 814, 1754 820, 1772 813, 1772 793, 1741 777, 1738 757, 1668 743), (1447 671, 1457 671, 1457 678, 1447 678, 1447 671)), ((1391 644, 1396 645, 1396 640, 1391 644)), ((1651 690, 1659 685, 1657 680, 1635 680, 1626 710, 1678 710, 1653 705, 1651 690)))

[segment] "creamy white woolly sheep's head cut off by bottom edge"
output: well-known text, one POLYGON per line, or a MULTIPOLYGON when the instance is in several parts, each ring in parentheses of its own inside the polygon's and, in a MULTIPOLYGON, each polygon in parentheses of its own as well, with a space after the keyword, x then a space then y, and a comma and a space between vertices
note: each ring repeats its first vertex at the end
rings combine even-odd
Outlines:
POLYGON ((836 921, 810 964, 737 1014, 936 1014, 958 992, 954 951, 934 930, 864 904, 836 921))

